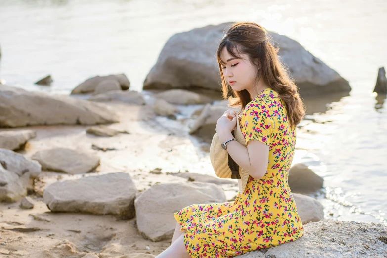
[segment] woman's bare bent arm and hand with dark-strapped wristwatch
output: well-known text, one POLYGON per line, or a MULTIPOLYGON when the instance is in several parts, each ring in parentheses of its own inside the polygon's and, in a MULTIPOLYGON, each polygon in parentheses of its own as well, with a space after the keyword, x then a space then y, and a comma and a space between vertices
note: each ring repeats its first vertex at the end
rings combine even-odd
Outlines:
MULTIPOLYGON (((219 131, 218 137, 221 142, 232 139, 231 132, 219 131)), ((263 178, 267 171, 269 162, 269 146, 258 141, 250 140, 247 147, 237 141, 231 141, 227 144, 227 151, 231 158, 254 179, 263 178)))

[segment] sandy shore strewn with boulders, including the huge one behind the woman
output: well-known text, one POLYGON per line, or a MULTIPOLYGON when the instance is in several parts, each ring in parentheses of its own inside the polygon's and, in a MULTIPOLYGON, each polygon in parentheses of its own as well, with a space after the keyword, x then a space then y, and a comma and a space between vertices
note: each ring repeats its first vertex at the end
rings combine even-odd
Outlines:
MULTIPOLYGON (((228 109, 211 86, 211 65, 203 64, 199 87, 176 81, 168 71, 177 65, 184 78, 198 72, 188 69, 186 50, 173 47, 184 41, 203 45, 204 39, 213 40, 204 35, 224 26, 173 36, 143 92, 130 90, 123 74, 89 78, 69 96, 0 85, 1 256, 151 258, 170 245, 174 212, 194 203, 235 199, 236 182, 212 176, 208 155, 216 120, 228 109), (200 36, 198 42, 191 34, 200 36), (177 52, 180 62, 172 65, 177 52)), ((320 67, 314 76, 331 74, 325 81, 305 79, 306 95, 338 84, 350 90, 297 42, 271 36, 283 42, 284 58, 287 47, 299 49, 300 60, 315 60, 303 65, 310 71, 316 71, 315 64, 320 67)), ((304 236, 240 257, 386 257, 385 226, 324 219, 320 202, 308 196, 323 181, 305 165, 293 164, 289 184, 304 236)))

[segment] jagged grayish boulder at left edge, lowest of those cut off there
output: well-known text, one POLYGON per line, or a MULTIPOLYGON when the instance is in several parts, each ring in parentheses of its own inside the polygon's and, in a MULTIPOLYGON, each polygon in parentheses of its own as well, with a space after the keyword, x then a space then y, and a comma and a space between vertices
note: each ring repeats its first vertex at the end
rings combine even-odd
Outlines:
POLYGON ((0 201, 20 201, 28 190, 34 189, 34 179, 41 171, 37 161, 0 149, 0 201))

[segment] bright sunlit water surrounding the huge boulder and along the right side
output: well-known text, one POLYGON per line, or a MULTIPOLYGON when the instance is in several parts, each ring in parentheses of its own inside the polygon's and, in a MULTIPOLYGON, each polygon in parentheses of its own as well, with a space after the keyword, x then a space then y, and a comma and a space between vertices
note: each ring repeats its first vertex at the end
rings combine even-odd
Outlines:
POLYGON ((319 198, 334 219, 387 224, 387 104, 372 94, 387 68, 386 13, 384 0, 0 0, 0 78, 68 94, 91 76, 125 73, 141 90, 173 34, 255 21, 350 82, 350 96, 305 100, 294 162, 324 177, 327 199, 319 198), (51 87, 34 85, 47 74, 51 87))

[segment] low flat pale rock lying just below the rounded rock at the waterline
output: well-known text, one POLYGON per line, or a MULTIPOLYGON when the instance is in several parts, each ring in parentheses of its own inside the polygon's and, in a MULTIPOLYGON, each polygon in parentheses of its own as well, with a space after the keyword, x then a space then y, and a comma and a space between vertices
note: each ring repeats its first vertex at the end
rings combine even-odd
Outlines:
POLYGON ((90 97, 88 100, 95 102, 124 102, 134 105, 145 105, 145 99, 141 93, 134 90, 114 90, 90 97))

